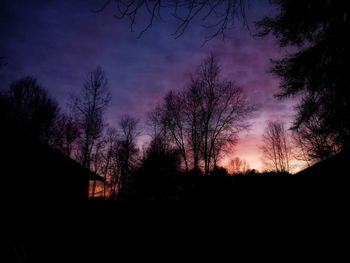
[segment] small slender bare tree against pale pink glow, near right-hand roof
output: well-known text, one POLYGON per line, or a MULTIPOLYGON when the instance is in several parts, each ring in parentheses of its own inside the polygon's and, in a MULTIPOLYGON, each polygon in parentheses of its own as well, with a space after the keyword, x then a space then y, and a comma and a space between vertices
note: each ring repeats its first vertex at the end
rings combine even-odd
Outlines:
POLYGON ((267 123, 261 150, 264 154, 264 163, 268 168, 278 173, 290 172, 293 155, 290 137, 284 122, 277 120, 267 123))

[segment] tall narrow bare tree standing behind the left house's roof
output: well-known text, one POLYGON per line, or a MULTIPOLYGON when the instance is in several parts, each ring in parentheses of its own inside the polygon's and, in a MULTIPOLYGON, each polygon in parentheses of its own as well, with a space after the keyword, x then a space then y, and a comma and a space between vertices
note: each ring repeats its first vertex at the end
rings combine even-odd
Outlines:
POLYGON ((101 67, 88 73, 81 94, 74 99, 79 124, 78 160, 90 168, 91 154, 103 131, 103 113, 111 99, 108 82, 101 67))

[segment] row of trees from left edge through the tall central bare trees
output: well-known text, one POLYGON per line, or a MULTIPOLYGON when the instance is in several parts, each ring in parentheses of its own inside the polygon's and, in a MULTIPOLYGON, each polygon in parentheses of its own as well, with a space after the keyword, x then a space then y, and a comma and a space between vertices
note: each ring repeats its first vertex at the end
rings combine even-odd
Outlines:
POLYGON ((149 113, 147 131, 141 131, 139 121, 128 115, 114 127, 106 124, 109 88, 105 72, 96 67, 63 112, 35 78, 25 77, 1 93, 1 122, 104 177, 105 184, 91 186, 92 197, 113 197, 122 190, 130 192, 140 174, 157 180, 180 171, 208 175, 248 127, 247 118, 254 109, 241 88, 221 79, 213 56, 197 67, 188 86, 170 91, 149 113), (142 133, 150 135, 150 143, 141 152, 142 133))

